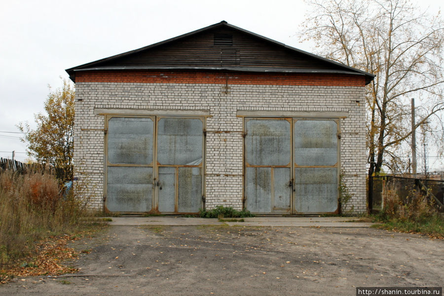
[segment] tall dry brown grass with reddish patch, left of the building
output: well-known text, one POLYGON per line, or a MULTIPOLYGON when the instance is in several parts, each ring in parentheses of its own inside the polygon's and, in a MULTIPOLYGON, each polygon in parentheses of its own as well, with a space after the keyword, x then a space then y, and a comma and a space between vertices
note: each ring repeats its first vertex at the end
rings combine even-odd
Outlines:
POLYGON ((53 175, 0 173, 0 267, 40 239, 77 229, 85 200, 62 191, 53 175))

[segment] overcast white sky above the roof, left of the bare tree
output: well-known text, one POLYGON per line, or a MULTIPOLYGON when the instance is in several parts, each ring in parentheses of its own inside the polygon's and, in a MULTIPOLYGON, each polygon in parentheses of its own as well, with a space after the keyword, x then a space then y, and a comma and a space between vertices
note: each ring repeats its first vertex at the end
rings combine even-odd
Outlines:
MULTIPOLYGON (((27 158, 16 124, 43 112, 65 69, 176 37, 222 20, 313 52, 300 43, 302 0, 0 0, 0 157, 27 158)), ((421 0, 436 14, 441 0, 421 0)))

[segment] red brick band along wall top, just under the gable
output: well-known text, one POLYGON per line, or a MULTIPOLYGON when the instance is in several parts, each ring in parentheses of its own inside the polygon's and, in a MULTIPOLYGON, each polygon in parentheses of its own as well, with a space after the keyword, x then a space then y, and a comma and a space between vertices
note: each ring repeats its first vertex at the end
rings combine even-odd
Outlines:
POLYGON ((76 82, 365 86, 363 75, 303 73, 205 73, 171 71, 84 71, 76 82))

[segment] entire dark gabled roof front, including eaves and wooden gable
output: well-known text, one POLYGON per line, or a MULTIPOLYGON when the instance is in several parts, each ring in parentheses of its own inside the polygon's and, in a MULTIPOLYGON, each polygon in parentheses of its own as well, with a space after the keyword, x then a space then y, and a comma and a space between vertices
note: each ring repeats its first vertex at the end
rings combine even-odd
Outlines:
POLYGON ((193 70, 273 73, 373 74, 345 66, 312 53, 260 36, 225 21, 67 69, 91 70, 193 70))

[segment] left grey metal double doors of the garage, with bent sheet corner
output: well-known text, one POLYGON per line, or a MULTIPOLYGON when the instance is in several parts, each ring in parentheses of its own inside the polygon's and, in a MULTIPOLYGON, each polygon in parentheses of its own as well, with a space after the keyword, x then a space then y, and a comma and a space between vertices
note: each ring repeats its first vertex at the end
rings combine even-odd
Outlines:
POLYGON ((197 213, 203 191, 203 118, 108 119, 106 210, 197 213))

